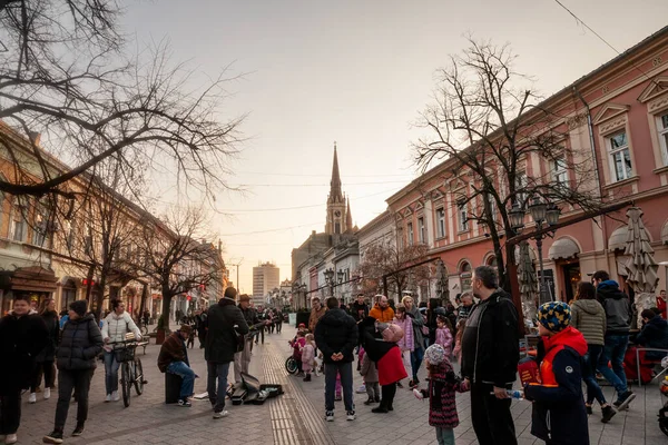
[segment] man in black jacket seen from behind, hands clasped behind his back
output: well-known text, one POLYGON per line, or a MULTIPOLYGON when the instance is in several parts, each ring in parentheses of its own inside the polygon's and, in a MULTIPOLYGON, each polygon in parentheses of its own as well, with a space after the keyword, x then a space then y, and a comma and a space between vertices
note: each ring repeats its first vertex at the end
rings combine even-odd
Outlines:
POLYGON ((340 374, 346 416, 354 421, 353 350, 357 346, 357 324, 338 307, 336 297, 327 298, 326 304, 327 312, 315 325, 315 343, 325 364, 325 419, 334 421, 334 389, 340 374))

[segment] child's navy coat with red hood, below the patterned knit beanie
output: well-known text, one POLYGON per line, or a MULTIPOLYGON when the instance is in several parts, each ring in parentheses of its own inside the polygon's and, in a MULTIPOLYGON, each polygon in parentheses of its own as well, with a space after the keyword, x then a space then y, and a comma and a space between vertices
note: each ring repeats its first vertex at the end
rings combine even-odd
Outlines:
POLYGON ((533 400, 531 434, 554 445, 589 445, 589 426, 582 398, 582 356, 587 342, 569 326, 543 337, 539 350, 540 382, 524 386, 533 400))

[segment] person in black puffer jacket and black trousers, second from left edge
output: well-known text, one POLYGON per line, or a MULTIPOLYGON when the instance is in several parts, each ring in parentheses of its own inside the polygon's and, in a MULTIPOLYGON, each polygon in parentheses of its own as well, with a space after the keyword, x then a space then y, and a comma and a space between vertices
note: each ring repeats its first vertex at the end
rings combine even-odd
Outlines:
POLYGON ((87 301, 70 304, 69 322, 56 354, 58 366, 58 404, 53 431, 43 437, 46 444, 61 444, 72 392, 77 394, 77 426, 72 436, 84 434, 88 419, 88 392, 97 367, 96 358, 102 350, 102 334, 91 314, 86 314, 87 301))

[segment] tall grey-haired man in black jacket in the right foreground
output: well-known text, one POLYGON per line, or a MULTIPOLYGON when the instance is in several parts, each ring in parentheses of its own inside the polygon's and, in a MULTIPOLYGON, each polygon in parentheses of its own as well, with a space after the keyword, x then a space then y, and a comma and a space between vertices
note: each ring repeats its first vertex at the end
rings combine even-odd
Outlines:
POLYGON ((507 389, 512 388, 520 359, 518 313, 499 289, 497 270, 475 268, 471 278, 473 307, 462 337, 462 376, 471 385, 471 421, 480 445, 517 444, 507 389))

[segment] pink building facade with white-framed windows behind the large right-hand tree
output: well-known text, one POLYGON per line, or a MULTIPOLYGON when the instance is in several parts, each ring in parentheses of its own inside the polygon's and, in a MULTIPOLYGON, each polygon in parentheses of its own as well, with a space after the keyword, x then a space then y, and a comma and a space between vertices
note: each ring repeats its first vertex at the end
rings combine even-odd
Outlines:
MULTIPOLYGON (((566 161, 596 158, 596 187, 605 204, 633 200, 645 215, 657 263, 668 261, 668 27, 543 101, 563 118, 557 122, 570 148, 566 161)), ((466 219, 458 204, 465 194, 465 171, 453 177, 445 160, 387 199, 400 243, 424 243, 440 256, 450 277, 450 295, 470 287, 471 269, 494 265, 484 226, 466 219)), ((530 154, 520 166, 528 177, 559 177, 576 182, 574 170, 530 154)), ((562 218, 581 210, 560 205, 562 218)), ((620 274, 626 241, 626 211, 559 229, 543 241, 548 287, 570 300, 581 279, 598 269, 620 274)), ((531 218, 527 216, 527 230, 531 218)), ((531 256, 537 258, 531 241, 531 256)), ((538 269, 538 264, 536 265, 538 269)), ((658 289, 666 289, 667 266, 659 266, 658 289)))

